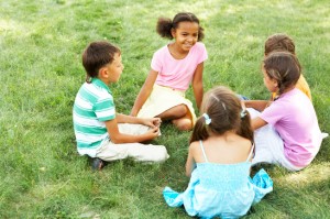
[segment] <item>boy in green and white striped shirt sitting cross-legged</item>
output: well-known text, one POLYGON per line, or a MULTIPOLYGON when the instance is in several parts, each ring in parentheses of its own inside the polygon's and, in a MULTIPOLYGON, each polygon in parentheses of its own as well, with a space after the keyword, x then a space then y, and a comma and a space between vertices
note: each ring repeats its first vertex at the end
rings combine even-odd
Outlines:
POLYGON ((141 144, 160 133, 160 118, 135 118, 116 112, 110 84, 123 70, 121 52, 108 42, 92 42, 82 54, 87 78, 74 103, 73 117, 80 155, 94 158, 100 169, 103 161, 125 157, 135 161, 163 162, 168 157, 163 145, 141 144))

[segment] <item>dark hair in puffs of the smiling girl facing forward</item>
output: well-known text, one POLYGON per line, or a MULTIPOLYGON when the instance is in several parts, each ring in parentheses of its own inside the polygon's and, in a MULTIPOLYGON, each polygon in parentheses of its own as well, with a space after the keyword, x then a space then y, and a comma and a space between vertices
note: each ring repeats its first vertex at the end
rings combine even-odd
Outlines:
MULTIPOLYGON (((178 24, 184 21, 195 22, 195 23, 198 23, 198 25, 199 25, 199 20, 194 13, 180 12, 180 13, 177 13, 173 20, 170 20, 168 18, 158 18, 157 28, 156 28, 157 33, 162 37, 172 40, 173 35, 172 35, 170 30, 177 29, 178 24)), ((204 29, 199 25, 197 41, 202 41, 202 39, 204 39, 204 29)))

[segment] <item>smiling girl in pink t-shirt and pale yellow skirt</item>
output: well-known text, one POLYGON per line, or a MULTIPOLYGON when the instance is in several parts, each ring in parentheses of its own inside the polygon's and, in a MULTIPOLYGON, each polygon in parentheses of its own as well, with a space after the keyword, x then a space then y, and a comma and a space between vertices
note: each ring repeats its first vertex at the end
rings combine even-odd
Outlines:
POLYGON ((193 129, 196 114, 185 91, 193 85, 197 108, 204 96, 202 72, 207 51, 200 42, 204 29, 195 14, 182 12, 173 20, 160 18, 157 33, 174 42, 154 53, 151 70, 141 88, 131 116, 158 117, 179 130, 193 129))

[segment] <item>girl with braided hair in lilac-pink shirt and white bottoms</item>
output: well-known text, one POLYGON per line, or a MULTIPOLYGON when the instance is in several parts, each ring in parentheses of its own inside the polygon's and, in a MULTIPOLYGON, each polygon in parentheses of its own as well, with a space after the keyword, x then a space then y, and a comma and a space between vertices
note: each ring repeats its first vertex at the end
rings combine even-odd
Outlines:
MULTIPOLYGON (((295 87, 300 77, 299 66, 297 57, 287 52, 271 53, 263 61, 264 84, 278 98, 262 112, 249 110, 255 130, 253 164, 274 163, 299 171, 311 163, 320 149, 322 134, 314 106, 295 87)), ((260 105, 246 101, 245 106, 260 105)))

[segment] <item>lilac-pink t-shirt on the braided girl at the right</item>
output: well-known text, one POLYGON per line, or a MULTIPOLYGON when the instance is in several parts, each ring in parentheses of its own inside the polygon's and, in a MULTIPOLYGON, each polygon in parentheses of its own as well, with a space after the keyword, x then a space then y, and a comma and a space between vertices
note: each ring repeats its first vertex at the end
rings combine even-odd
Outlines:
POLYGON ((280 95, 260 117, 274 125, 292 164, 305 167, 314 160, 322 142, 321 131, 310 99, 299 89, 280 95))

